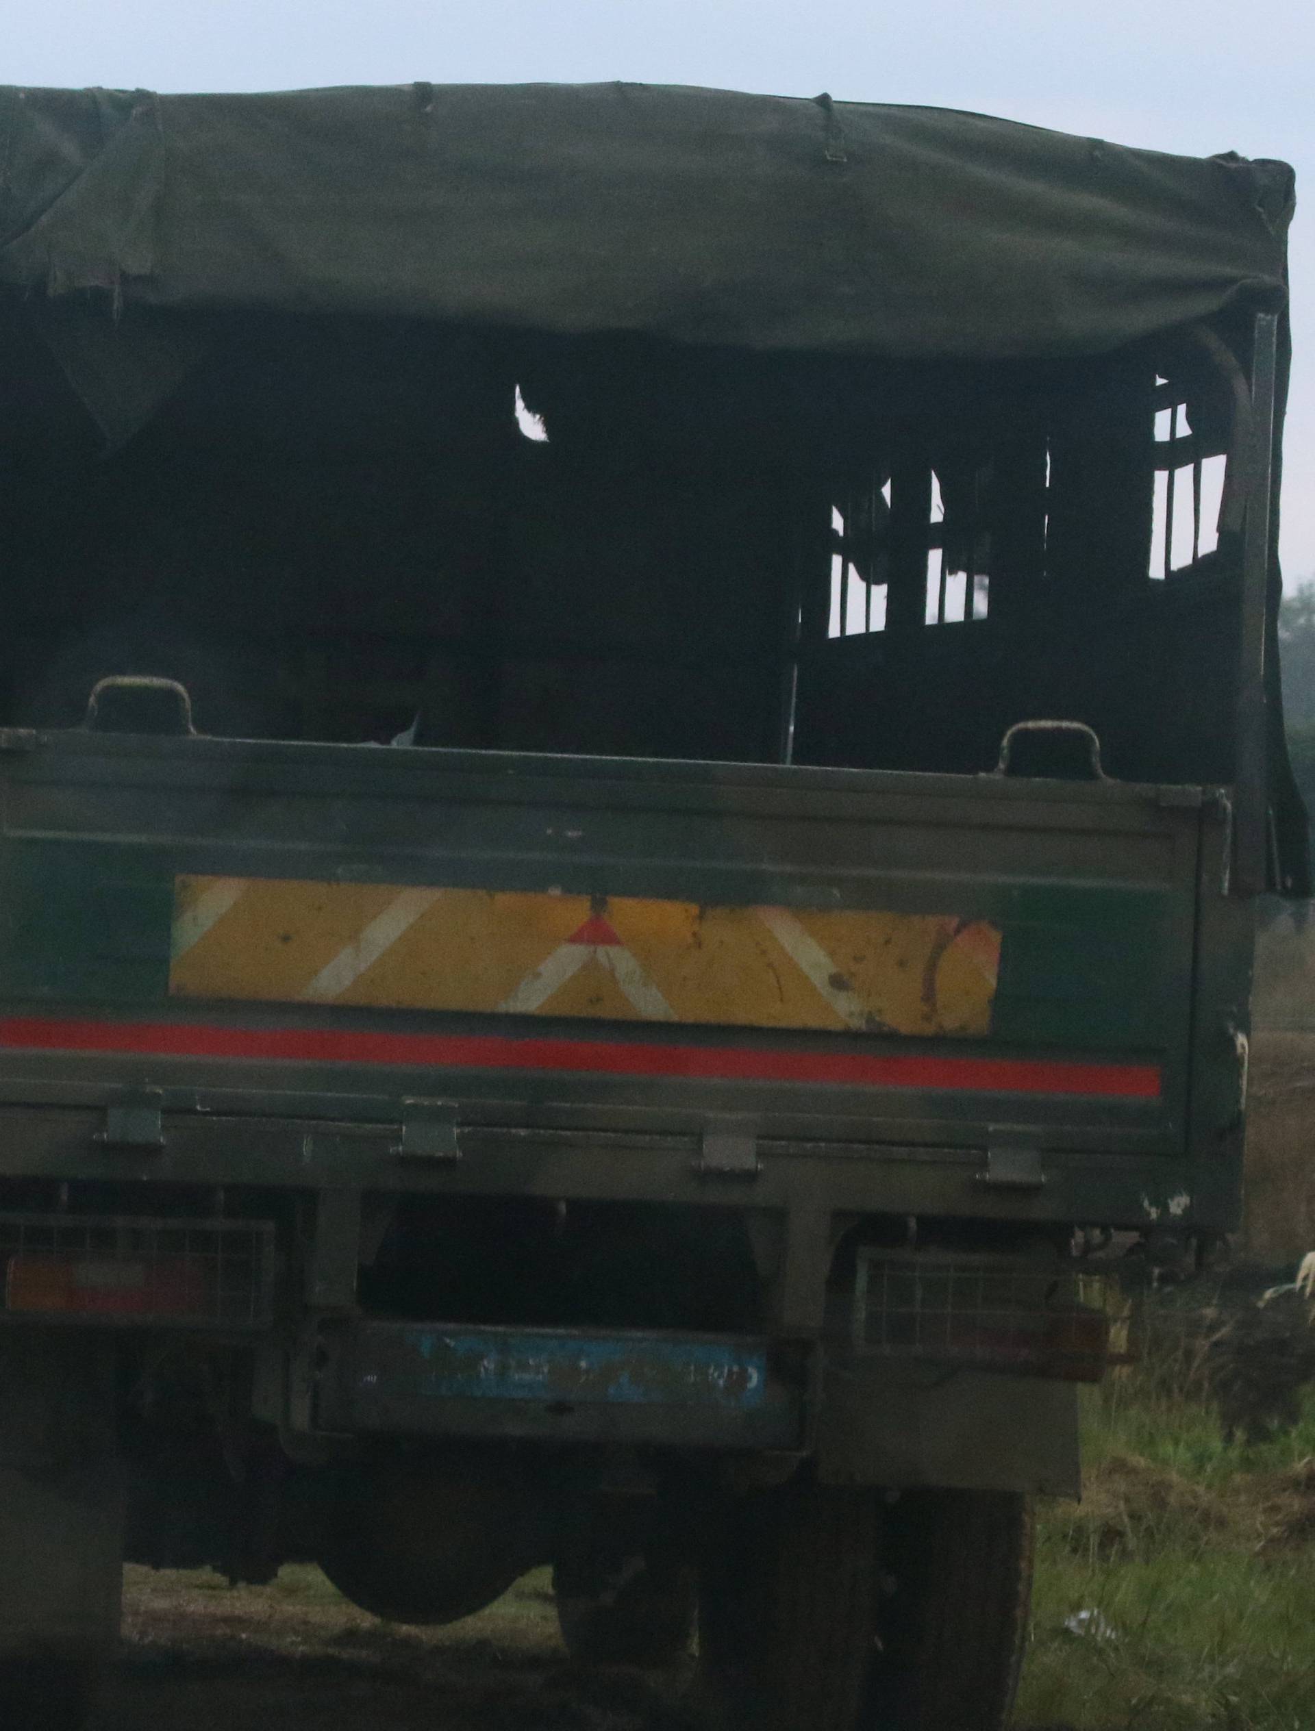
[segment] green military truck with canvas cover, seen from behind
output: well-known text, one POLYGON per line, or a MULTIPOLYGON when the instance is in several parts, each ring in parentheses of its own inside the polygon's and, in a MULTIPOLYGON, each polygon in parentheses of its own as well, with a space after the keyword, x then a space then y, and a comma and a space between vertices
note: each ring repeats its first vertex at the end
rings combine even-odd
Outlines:
POLYGON ((988 1731, 1237 1220, 1291 171, 0 92, 0 1703, 125 1558, 988 1731))

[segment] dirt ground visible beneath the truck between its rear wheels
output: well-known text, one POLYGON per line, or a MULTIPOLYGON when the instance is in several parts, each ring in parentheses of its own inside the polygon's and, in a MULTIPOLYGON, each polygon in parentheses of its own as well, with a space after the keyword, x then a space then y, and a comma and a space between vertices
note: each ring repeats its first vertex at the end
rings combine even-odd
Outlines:
POLYGON ((123 1665, 94 1731, 686 1731, 679 1686, 572 1667, 546 1575, 416 1631, 308 1568, 272 1587, 130 1568, 123 1665))

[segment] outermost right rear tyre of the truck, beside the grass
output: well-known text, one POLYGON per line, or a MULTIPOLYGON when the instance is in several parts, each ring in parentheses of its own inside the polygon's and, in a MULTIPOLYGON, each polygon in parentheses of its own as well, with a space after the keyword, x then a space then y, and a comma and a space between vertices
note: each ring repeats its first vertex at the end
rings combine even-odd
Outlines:
POLYGON ((1033 1587, 1033 1508, 1007 1490, 908 1490, 887 1511, 871 1731, 1001 1731, 1033 1587))

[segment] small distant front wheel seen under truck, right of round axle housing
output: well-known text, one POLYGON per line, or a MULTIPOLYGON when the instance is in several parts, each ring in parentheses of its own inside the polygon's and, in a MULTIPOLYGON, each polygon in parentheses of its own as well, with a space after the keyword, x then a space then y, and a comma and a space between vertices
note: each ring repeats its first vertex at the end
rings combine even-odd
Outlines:
POLYGON ((674 1560, 631 1556, 608 1570, 561 1560, 553 1568, 558 1627, 582 1665, 674 1665, 695 1632, 695 1570, 674 1560))

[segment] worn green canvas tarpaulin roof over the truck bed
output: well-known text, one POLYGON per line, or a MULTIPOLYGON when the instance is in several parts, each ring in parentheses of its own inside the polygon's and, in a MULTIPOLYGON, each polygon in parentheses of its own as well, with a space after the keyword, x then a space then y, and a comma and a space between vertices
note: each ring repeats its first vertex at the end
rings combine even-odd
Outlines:
POLYGON ((1284 298, 1291 171, 650 85, 0 90, 0 284, 894 358, 1284 298))

